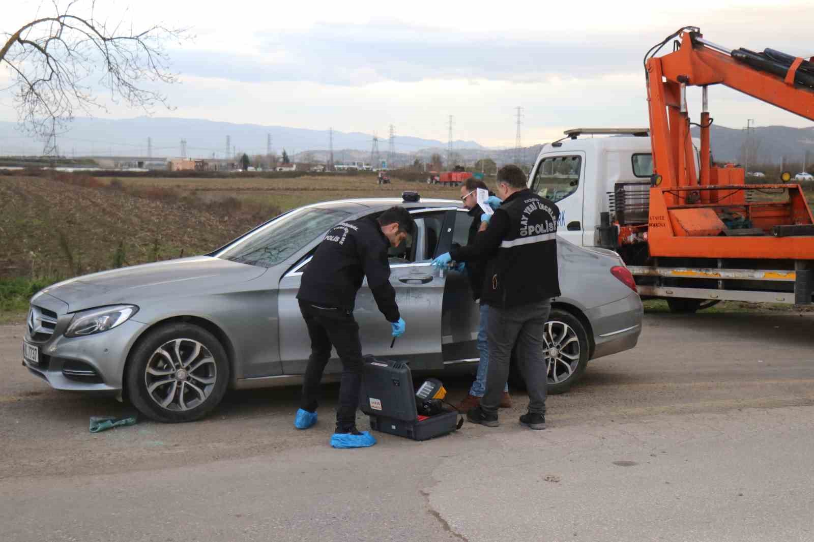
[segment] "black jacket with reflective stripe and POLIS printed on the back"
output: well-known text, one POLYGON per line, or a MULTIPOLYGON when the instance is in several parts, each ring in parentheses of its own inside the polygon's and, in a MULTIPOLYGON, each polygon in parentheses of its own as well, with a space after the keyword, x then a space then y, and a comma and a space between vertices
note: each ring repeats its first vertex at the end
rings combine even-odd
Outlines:
POLYGON ((560 295, 558 218, 552 201, 519 190, 505 199, 474 244, 449 251, 457 261, 488 259, 481 303, 512 308, 560 295))

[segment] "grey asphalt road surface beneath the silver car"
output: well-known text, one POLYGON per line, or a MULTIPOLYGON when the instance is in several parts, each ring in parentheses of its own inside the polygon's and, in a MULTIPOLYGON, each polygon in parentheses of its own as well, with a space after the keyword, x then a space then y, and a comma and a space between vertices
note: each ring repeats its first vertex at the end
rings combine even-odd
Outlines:
POLYGON ((284 389, 92 435, 125 407, 50 390, 0 327, 0 540, 814 540, 812 330, 646 315, 637 348, 549 398, 546 431, 516 393, 495 429, 334 450, 335 386, 309 431, 284 389))

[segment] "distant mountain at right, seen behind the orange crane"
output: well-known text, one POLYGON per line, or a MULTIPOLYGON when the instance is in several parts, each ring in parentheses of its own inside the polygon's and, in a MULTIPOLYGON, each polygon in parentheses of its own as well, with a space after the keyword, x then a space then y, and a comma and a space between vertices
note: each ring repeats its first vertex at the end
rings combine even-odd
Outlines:
MULTIPOLYGON (((698 138, 698 128, 692 134, 698 138)), ((781 156, 786 163, 802 163, 804 153, 809 151, 808 161, 814 161, 814 127, 789 128, 788 126, 758 126, 750 130, 751 164, 780 164, 781 156)), ((712 125, 710 129, 712 156, 718 161, 743 161, 743 144, 746 130, 712 125)), ((750 168, 751 169, 751 168, 750 168)))

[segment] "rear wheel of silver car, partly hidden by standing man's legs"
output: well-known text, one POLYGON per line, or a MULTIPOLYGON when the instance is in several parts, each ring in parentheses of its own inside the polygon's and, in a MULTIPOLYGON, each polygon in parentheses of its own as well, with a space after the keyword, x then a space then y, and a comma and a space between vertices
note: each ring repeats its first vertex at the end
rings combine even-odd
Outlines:
MULTIPOLYGON (((588 333, 579 318, 562 308, 553 308, 549 320, 545 322, 544 339, 551 347, 564 345, 556 358, 550 356, 549 352, 544 352, 545 361, 549 365, 547 391, 549 395, 556 396, 568 391, 582 378, 588 366, 588 333)), ((523 374, 520 374, 514 352, 509 369, 509 385, 519 390, 526 389, 526 382, 523 374)))

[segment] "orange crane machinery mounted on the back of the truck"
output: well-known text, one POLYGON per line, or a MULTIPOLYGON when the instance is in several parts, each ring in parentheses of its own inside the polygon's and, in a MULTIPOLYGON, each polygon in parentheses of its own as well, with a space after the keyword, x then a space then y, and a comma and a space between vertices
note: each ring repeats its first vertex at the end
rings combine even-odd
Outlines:
POLYGON ((814 120, 814 76, 803 71, 814 64, 772 50, 767 50, 774 54, 769 57, 727 50, 707 42, 695 27, 682 28, 659 48, 674 37, 681 46, 662 57, 646 57, 645 64, 654 160, 649 223, 643 226, 650 256, 794 260, 795 269, 809 269, 814 220, 800 186, 746 185, 742 168, 711 167, 707 85, 726 85, 814 120), (787 60, 788 68, 775 62, 777 55, 787 60), (702 87, 700 172, 689 135, 687 86, 702 87), (788 199, 751 201, 749 190, 782 190, 788 199), (752 227, 729 235, 721 213, 740 216, 752 227))

